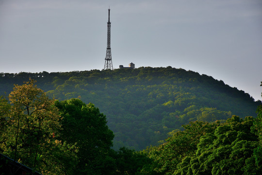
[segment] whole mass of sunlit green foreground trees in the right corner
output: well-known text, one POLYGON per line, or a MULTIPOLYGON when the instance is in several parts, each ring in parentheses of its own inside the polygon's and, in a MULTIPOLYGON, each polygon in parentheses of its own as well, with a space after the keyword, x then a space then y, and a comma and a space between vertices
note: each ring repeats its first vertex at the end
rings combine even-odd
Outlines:
POLYGON ((262 172, 262 105, 258 117, 226 123, 191 122, 158 147, 137 175, 260 175, 262 172))

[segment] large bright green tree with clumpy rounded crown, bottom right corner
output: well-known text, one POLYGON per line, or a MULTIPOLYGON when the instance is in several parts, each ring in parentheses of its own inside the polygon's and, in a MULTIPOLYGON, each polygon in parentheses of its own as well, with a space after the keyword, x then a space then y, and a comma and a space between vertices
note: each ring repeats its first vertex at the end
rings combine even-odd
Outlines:
MULTIPOLYGON (((188 175, 251 175, 261 170, 255 165, 258 137, 251 132, 254 119, 232 116, 213 133, 202 136, 196 154, 189 161, 188 175)), ((176 171, 179 174, 185 166, 176 171)))

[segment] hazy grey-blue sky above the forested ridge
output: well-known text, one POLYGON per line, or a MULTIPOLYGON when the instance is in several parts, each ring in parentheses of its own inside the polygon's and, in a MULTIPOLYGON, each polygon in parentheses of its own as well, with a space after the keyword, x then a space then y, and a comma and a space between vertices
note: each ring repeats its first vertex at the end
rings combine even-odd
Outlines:
POLYGON ((0 0, 0 72, 182 68, 262 100, 262 0, 0 0))

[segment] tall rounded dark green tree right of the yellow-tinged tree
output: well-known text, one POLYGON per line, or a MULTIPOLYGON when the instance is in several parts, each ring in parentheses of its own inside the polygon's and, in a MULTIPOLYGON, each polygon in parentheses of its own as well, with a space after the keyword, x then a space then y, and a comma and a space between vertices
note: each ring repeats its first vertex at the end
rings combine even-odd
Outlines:
POLYGON ((110 175, 115 169, 115 160, 110 156, 114 139, 106 125, 106 116, 93 104, 84 104, 79 99, 70 99, 55 104, 63 117, 61 140, 79 148, 79 163, 76 175, 110 175))

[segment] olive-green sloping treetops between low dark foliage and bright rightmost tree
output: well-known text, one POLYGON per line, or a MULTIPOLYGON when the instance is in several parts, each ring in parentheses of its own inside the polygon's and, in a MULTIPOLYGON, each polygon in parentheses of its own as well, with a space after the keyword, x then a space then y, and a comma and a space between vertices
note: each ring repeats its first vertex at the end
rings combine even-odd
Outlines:
POLYGON ((183 125, 184 131, 175 132, 164 144, 150 152, 149 157, 153 159, 153 170, 162 174, 174 173, 178 169, 177 165, 183 159, 195 154, 201 136, 214 132, 218 125, 219 123, 204 122, 191 122, 183 125))

